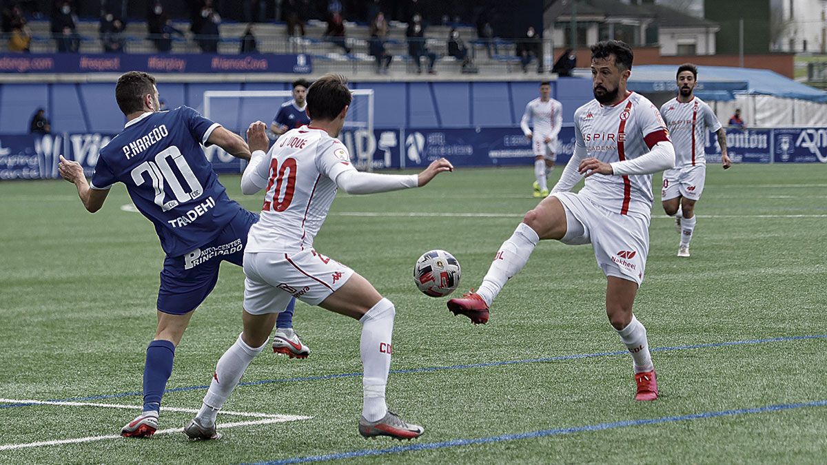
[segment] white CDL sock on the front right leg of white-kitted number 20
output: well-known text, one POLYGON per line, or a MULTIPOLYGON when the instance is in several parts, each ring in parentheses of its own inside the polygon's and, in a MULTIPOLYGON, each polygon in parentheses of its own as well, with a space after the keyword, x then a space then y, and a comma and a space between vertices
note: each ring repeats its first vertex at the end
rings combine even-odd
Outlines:
POLYGON ((382 299, 364 314, 359 352, 362 359, 362 416, 368 421, 388 413, 385 386, 390 371, 391 335, 396 310, 390 300, 382 299))

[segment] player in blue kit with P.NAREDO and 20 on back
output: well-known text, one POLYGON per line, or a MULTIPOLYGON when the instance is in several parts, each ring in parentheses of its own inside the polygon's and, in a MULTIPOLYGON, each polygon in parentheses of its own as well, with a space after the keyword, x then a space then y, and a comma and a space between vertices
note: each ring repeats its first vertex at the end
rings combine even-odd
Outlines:
MULTIPOLYGON (((158 411, 172 362, 194 309, 218 281, 221 261, 241 266, 247 232, 258 216, 227 197, 201 144, 218 145, 244 160, 246 142, 192 108, 160 112, 150 74, 131 71, 117 80, 115 97, 127 117, 123 131, 100 150, 91 183, 75 161, 60 157, 60 175, 78 188, 91 213, 103 207, 109 188, 120 181, 137 209, 155 225, 166 258, 160 272, 158 328, 146 349, 144 408, 121 434, 146 437, 158 428, 158 411)), ((292 303, 280 314, 292 330, 292 303)), ((276 332, 276 339, 280 337, 276 332)), ((297 352, 309 350, 290 338, 297 352)))

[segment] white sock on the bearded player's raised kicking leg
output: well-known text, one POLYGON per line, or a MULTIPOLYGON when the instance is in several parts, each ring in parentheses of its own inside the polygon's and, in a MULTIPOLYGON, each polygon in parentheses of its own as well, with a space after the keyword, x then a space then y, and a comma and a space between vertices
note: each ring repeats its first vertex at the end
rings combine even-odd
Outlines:
POLYGON ((503 290, 505 282, 511 279, 512 276, 519 273, 523 269, 528 256, 531 256, 534 247, 540 242, 540 237, 537 232, 526 223, 519 223, 514 234, 503 242, 497 255, 494 256, 494 261, 482 279, 480 289, 476 291, 486 304, 491 304, 496 296, 503 290))

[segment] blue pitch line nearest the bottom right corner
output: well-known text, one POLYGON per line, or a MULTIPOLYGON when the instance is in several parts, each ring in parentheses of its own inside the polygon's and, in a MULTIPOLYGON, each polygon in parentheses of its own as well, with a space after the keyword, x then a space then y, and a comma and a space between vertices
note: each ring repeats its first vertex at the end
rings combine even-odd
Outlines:
POLYGON ((452 439, 450 441, 442 441, 439 443, 416 443, 405 446, 396 446, 392 448, 382 449, 361 449, 344 453, 330 453, 327 455, 314 455, 311 457, 296 457, 285 458, 282 460, 274 460, 270 462, 259 462, 256 465, 282 465, 286 463, 310 463, 310 462, 326 462, 329 460, 341 460, 342 458, 357 458, 375 455, 385 455, 389 453, 402 453, 409 451, 433 450, 437 448, 454 448, 460 446, 468 446, 472 444, 487 444, 487 443, 502 443, 506 441, 516 441, 519 439, 536 439, 547 438, 549 436, 562 436, 563 434, 582 433, 584 431, 603 431, 605 429, 626 428, 629 426, 641 426, 644 424, 662 424, 675 423, 678 421, 686 421, 692 419, 710 419, 734 415, 745 414, 762 414, 767 412, 777 412, 782 410, 802 409, 805 407, 822 407, 827 405, 827 400, 813 400, 811 402, 798 402, 796 404, 780 404, 767 405, 764 407, 754 407, 751 409, 736 409, 736 410, 719 410, 714 412, 701 412, 689 415, 674 415, 664 416, 660 418, 650 419, 626 419, 623 421, 614 421, 611 423, 586 424, 583 426, 574 426, 571 428, 558 429, 541 429, 539 431, 529 431, 527 433, 517 434, 500 434, 499 436, 490 436, 488 438, 476 439, 452 439))

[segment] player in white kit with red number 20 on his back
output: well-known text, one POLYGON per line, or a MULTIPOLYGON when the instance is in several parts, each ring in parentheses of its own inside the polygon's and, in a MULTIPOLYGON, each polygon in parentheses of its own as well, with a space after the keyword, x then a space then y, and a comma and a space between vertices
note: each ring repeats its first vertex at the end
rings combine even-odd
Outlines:
POLYGON ((293 297, 358 319, 362 324, 362 436, 414 439, 424 429, 387 410, 394 304, 349 267, 313 250, 313 238, 327 218, 337 188, 370 194, 428 184, 453 167, 444 158, 418 175, 360 173, 334 139, 342 130, 351 93, 344 78, 327 74, 308 89, 308 126, 286 132, 270 152, 262 122, 247 131, 252 158, 241 176, 241 191, 266 186, 261 219, 248 236, 244 254, 244 331, 218 361, 198 415, 184 428, 191 439, 217 439, 215 419, 252 359, 267 345, 276 315, 293 297))

